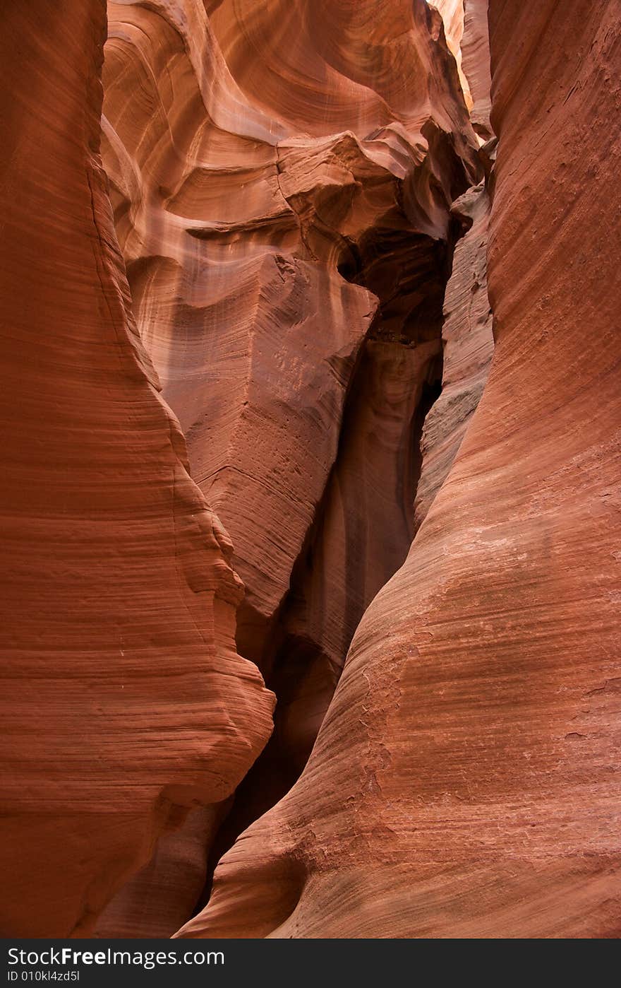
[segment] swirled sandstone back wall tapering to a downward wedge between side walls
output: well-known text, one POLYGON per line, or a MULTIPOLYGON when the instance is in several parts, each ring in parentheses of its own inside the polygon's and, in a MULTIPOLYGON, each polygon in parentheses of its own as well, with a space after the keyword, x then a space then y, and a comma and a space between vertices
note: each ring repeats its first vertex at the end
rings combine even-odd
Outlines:
POLYGON ((399 296, 386 323, 421 303, 398 281, 404 241, 446 238, 477 167, 426 5, 381 7, 109 5, 105 157, 138 326, 235 546, 238 642, 264 667, 370 292, 399 296))

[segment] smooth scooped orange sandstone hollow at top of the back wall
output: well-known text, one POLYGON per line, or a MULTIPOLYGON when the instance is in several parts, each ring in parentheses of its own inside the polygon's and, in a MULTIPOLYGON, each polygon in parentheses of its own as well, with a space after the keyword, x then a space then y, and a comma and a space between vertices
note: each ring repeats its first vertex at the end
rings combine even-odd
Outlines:
POLYGON ((460 89, 455 66, 440 68, 424 0, 222 0, 211 10, 231 75, 293 133, 366 137, 394 121, 413 132, 430 111, 464 140, 463 100, 446 100, 460 89))

